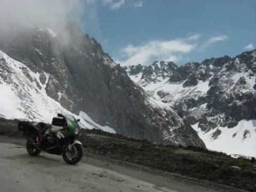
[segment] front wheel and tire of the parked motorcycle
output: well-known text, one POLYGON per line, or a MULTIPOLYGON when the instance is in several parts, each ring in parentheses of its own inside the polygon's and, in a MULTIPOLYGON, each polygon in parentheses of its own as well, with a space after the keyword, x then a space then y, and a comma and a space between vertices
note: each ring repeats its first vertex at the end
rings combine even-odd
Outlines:
POLYGON ((62 151, 62 157, 67 164, 75 165, 78 163, 83 157, 83 146, 75 144, 70 152, 68 147, 62 151))

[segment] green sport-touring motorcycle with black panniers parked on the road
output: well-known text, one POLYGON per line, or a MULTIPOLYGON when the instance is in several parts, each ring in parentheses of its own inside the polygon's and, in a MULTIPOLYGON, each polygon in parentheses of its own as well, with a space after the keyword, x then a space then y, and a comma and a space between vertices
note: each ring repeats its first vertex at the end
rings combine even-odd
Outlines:
POLYGON ((26 148, 29 155, 37 156, 42 151, 49 154, 61 155, 68 164, 76 164, 83 157, 83 145, 74 140, 81 127, 72 115, 58 114, 52 118, 52 124, 43 122, 30 123, 20 121, 18 130, 23 131, 27 139, 26 148))

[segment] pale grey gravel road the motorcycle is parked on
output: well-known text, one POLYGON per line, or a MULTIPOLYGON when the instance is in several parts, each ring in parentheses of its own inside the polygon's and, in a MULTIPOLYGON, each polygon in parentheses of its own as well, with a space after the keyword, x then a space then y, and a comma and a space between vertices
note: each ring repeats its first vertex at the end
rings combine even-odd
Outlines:
POLYGON ((47 153, 37 157, 28 155, 24 142, 0 136, 1 192, 241 191, 163 177, 86 156, 77 165, 68 165, 61 156, 47 153))

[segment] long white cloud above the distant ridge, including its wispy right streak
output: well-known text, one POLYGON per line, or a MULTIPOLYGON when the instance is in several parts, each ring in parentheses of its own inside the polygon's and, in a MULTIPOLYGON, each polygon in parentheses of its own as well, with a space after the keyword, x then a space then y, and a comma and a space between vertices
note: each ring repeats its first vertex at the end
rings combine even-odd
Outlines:
POLYGON ((169 40, 151 40, 140 45, 126 45, 115 58, 122 66, 149 65, 156 60, 177 62, 185 60, 186 54, 193 51, 205 50, 214 43, 226 41, 227 35, 212 36, 202 39, 202 34, 190 34, 190 36, 169 40), (200 39, 199 39, 200 38, 200 39))

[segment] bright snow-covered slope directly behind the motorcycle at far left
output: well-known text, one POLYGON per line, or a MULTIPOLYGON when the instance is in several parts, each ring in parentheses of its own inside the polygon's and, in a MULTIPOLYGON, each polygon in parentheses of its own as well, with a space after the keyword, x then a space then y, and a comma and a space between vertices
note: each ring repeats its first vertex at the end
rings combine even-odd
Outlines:
MULTIPOLYGON (((51 123, 58 113, 77 115, 63 108, 46 94, 46 84, 51 74, 34 73, 23 63, 0 50, 0 116, 51 123), (42 79, 45 78, 45 81, 42 79)), ((50 85, 49 85, 50 86, 50 85)), ((95 123, 86 113, 80 112, 81 125, 88 129, 115 132, 108 126, 95 123)))

